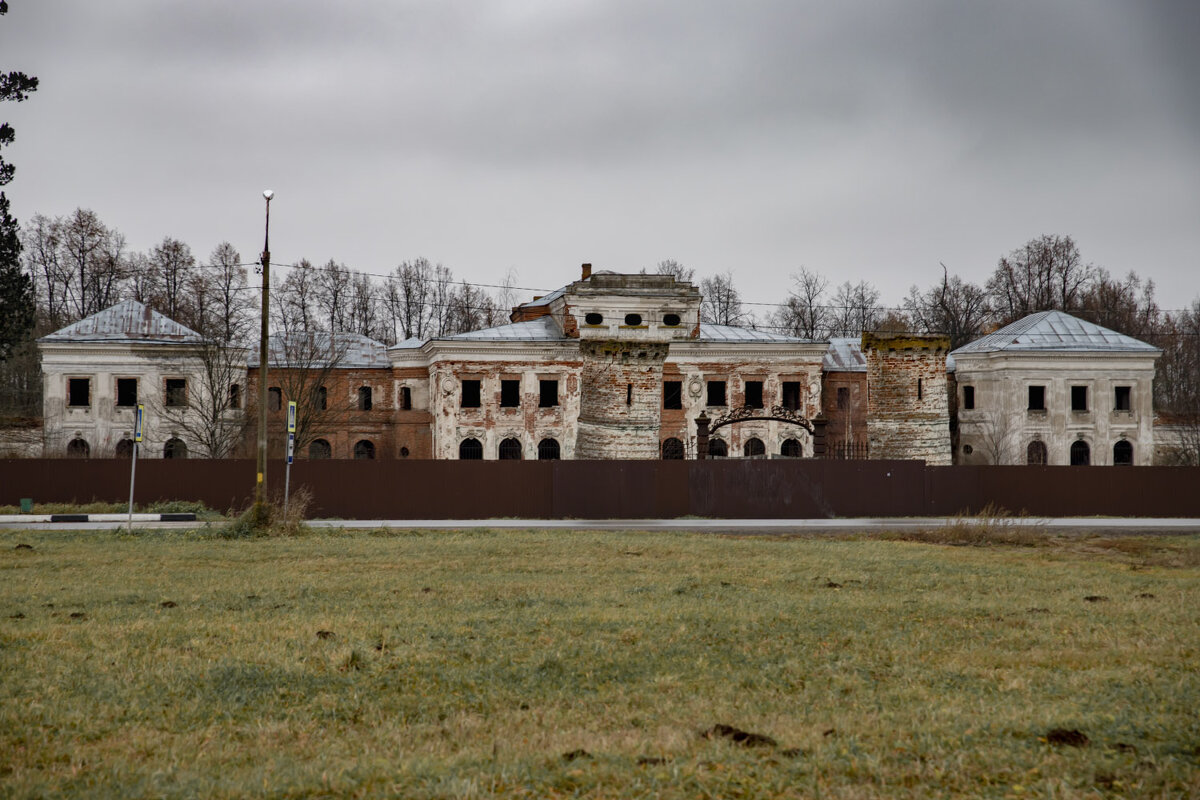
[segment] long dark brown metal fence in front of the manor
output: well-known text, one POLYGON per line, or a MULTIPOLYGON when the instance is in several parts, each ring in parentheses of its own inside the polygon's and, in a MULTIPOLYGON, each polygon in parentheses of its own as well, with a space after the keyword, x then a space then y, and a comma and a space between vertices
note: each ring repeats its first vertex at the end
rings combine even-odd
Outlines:
MULTIPOLYGON (((269 475, 283 486, 283 467, 269 475)), ((252 461, 138 463, 137 501, 242 509, 252 461)), ((830 518, 972 513, 1200 517, 1200 468, 926 467, 900 461, 301 461, 311 516, 360 519, 830 518)), ((128 499, 130 462, 0 459, 0 505, 128 499)))

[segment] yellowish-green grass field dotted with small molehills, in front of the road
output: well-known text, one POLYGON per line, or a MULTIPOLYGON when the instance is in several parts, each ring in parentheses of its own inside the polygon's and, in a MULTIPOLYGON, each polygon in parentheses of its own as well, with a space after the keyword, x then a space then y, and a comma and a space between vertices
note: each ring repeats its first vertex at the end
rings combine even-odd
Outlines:
POLYGON ((5 796, 1200 795, 1196 539, 8 531, 0 571, 5 796))

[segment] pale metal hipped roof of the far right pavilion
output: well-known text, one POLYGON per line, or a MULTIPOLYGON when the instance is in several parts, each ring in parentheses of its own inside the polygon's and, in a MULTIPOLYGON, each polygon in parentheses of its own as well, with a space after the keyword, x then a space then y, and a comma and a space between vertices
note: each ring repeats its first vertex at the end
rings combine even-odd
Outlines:
POLYGON ((1000 351, 1159 353, 1159 349, 1062 311, 1040 311, 964 344, 954 354, 1000 351))

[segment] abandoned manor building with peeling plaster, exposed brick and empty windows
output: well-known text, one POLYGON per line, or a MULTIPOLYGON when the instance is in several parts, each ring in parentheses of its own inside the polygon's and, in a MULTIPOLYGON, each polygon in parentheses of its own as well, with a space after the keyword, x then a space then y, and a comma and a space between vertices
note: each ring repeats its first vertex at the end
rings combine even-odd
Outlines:
MULTIPOLYGON (((1150 463, 1158 350, 1097 325, 1045 312, 950 354, 942 336, 712 325, 701 300, 586 264, 498 327, 392 347, 275 335, 271 451, 295 402, 298 458, 1150 463)), ((214 347, 132 300, 38 347, 47 455, 127 455, 139 404, 143 456, 252 451, 257 347, 214 347)))

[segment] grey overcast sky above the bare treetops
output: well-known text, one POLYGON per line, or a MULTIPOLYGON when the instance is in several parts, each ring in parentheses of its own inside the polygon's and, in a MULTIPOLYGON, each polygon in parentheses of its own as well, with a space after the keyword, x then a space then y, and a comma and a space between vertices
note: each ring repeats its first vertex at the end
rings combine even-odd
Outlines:
POLYGON ((1200 295, 1195 0, 10 0, 13 212, 554 288, 673 258, 888 303, 1040 234, 1200 295))

